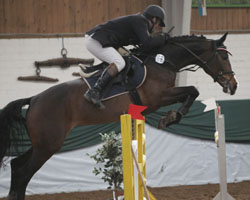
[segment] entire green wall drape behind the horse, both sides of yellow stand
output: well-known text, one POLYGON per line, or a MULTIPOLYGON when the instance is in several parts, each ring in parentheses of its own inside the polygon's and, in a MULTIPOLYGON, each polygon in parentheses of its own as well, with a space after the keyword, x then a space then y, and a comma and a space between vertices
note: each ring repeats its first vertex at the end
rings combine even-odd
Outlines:
MULTIPOLYGON (((226 140, 230 142, 250 142, 250 100, 218 101, 218 103, 221 106, 222 114, 225 115, 226 140)), ((177 109, 179 106, 179 104, 175 104, 160 108, 146 116, 146 123, 157 127, 161 117, 165 116, 169 110, 177 109)), ((172 125, 165 130, 178 135, 214 140, 214 111, 204 113, 204 108, 205 105, 196 101, 179 124, 172 125)), ((60 152, 98 144, 101 142, 99 133, 109 133, 111 131, 119 133, 120 124, 110 123, 76 127, 67 136, 60 152)), ((23 136, 23 139, 18 148, 21 152, 26 151, 30 147, 27 134, 23 136)), ((11 155, 15 154, 13 150, 11 155)))

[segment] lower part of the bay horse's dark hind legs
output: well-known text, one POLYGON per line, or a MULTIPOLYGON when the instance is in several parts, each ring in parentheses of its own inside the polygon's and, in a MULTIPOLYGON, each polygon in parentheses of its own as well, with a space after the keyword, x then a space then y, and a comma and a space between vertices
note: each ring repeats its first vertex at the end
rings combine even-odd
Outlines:
POLYGON ((11 165, 15 170, 12 173, 8 200, 25 199, 25 191, 30 179, 52 155, 40 149, 30 149, 23 157, 13 160, 11 165))

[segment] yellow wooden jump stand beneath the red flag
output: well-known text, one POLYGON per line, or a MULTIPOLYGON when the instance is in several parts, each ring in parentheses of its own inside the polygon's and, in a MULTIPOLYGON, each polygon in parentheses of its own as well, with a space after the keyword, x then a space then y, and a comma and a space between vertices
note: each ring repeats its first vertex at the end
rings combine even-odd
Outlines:
POLYGON ((125 200, 156 200, 146 187, 145 121, 121 115, 125 200))

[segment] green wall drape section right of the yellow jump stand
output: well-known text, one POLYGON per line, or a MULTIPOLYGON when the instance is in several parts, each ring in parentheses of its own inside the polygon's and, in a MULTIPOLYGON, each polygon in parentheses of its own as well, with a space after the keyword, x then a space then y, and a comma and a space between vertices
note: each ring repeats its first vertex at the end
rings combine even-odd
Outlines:
MULTIPOLYGON (((250 142, 250 100, 218 101, 221 113, 225 116, 225 132, 228 142, 250 142)), ((168 110, 178 108, 177 105, 159 109, 147 117, 147 123, 156 127, 157 121, 168 110)), ((189 113, 167 131, 179 135, 201 139, 214 139, 214 111, 203 112, 205 105, 196 101, 189 113)))

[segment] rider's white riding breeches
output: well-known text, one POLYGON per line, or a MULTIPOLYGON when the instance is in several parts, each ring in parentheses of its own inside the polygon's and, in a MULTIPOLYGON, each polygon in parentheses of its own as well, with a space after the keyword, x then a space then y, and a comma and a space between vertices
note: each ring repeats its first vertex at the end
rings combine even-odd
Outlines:
POLYGON ((90 53, 108 64, 114 63, 120 72, 126 65, 121 54, 113 47, 102 47, 101 43, 89 35, 85 35, 85 46, 90 53))

